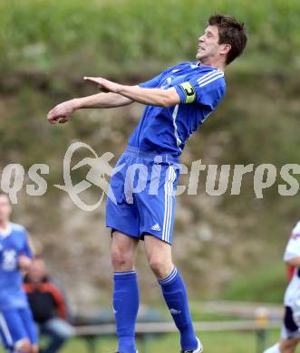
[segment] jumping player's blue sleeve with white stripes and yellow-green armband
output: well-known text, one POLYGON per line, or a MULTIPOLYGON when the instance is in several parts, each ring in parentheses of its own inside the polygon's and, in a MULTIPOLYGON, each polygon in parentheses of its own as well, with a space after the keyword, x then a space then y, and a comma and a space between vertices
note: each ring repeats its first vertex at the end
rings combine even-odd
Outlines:
POLYGON ((216 70, 203 76, 195 75, 189 81, 175 86, 175 89, 181 103, 197 102, 214 110, 225 94, 224 73, 216 70))

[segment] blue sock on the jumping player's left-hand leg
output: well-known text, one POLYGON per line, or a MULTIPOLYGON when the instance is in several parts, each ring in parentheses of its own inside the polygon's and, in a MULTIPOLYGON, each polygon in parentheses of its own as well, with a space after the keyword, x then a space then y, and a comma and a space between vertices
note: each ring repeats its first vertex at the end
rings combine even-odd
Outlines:
POLYGON ((119 338, 118 350, 121 353, 136 353, 135 322, 140 304, 137 273, 114 272, 113 277, 113 311, 119 338))

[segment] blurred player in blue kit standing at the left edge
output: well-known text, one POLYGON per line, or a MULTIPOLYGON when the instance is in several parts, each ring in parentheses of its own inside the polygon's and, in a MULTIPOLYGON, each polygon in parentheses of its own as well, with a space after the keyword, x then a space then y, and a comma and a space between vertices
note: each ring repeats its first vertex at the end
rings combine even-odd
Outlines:
POLYGON ((24 227, 9 222, 9 197, 0 193, 0 336, 8 352, 37 353, 32 312, 23 291, 21 271, 33 256, 24 227))

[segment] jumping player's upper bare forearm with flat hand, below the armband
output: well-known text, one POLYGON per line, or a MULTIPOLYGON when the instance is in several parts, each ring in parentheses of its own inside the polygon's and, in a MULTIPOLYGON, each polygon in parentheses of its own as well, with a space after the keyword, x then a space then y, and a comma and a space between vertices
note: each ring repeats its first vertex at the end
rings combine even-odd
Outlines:
POLYGON ((180 97, 174 88, 169 90, 149 89, 140 86, 124 86, 102 77, 84 77, 84 80, 95 83, 100 89, 121 94, 122 96, 146 105, 172 107, 180 103, 180 97))

